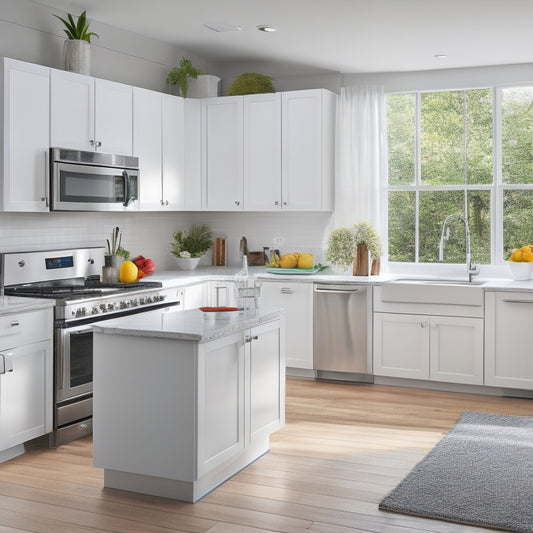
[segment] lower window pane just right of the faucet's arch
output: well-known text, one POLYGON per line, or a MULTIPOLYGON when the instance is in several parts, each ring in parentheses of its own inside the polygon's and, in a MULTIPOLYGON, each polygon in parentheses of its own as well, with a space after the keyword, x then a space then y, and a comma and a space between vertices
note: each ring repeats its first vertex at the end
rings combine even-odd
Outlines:
POLYGON ((490 265, 490 191, 469 191, 467 199, 472 262, 490 265))

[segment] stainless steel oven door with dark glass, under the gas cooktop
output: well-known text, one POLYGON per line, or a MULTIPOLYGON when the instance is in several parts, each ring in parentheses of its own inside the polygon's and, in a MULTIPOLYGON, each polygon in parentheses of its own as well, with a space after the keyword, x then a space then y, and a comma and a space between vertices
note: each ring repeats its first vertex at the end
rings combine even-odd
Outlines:
POLYGON ((93 391, 93 330, 90 324, 56 328, 56 403, 93 391))

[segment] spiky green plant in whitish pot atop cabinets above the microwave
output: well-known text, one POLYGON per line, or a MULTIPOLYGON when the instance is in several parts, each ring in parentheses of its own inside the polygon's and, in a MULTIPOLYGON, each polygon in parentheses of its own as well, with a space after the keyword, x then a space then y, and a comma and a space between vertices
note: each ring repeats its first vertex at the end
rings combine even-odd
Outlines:
POLYGON ((91 37, 99 37, 99 35, 89 31, 90 23, 87 21, 87 12, 84 11, 78 17, 77 22, 74 22, 74 17, 70 13, 67 13, 66 19, 58 15, 54 17, 65 25, 63 30, 67 35, 67 40, 63 45, 65 70, 90 75, 91 37))

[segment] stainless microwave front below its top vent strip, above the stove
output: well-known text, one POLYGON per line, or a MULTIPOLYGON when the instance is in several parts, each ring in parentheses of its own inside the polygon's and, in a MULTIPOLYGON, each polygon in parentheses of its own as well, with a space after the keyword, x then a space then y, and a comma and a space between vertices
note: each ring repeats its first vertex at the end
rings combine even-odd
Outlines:
POLYGON ((53 163, 52 210, 131 210, 138 195, 138 170, 53 163))

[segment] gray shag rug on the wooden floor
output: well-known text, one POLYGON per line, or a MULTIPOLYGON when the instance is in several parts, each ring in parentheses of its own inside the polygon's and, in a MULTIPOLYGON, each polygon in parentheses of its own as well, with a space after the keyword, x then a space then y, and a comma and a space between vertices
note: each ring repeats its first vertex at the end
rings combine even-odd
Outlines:
POLYGON ((532 533, 533 418, 466 411, 379 508, 532 533))

